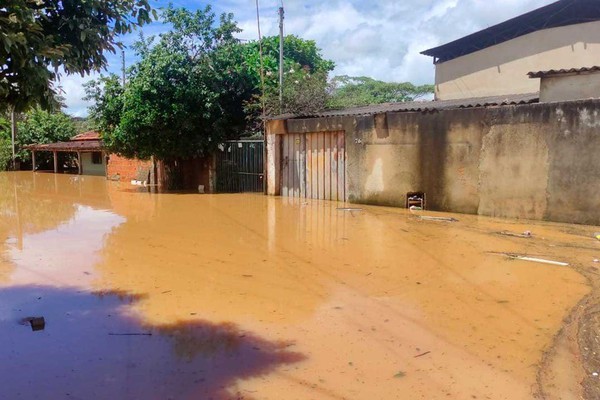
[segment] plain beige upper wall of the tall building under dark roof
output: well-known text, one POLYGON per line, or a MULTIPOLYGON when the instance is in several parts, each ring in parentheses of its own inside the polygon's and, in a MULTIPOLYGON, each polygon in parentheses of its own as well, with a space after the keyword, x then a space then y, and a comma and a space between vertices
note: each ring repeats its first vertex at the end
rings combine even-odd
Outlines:
POLYGON ((600 60, 600 21, 545 29, 436 65, 438 100, 533 93, 531 71, 590 67, 600 60))

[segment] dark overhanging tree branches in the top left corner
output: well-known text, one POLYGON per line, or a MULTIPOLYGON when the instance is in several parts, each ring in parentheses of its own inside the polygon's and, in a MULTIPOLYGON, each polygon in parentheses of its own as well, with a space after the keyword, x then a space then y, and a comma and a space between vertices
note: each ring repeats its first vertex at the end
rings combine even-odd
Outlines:
POLYGON ((148 0, 4 0, 0 6, 0 107, 55 103, 53 81, 106 67, 117 36, 150 22, 148 0))

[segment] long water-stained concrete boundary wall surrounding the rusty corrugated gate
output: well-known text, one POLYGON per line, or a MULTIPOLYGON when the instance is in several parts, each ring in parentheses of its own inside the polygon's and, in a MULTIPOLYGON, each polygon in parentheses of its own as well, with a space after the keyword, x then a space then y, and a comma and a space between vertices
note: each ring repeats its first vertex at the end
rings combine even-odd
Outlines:
POLYGON ((600 100, 288 120, 268 151, 278 134, 342 129, 351 202, 422 191, 433 210, 600 224, 600 100))

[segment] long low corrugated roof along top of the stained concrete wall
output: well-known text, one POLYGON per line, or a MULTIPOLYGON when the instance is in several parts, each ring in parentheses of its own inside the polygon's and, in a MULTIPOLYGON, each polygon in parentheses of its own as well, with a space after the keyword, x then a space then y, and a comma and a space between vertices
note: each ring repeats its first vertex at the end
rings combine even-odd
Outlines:
POLYGON ((506 96, 475 97, 470 99, 413 101, 406 103, 384 103, 365 107, 346 108, 343 110, 328 110, 306 115, 280 115, 272 119, 320 118, 374 115, 387 112, 422 112, 435 110, 451 110, 457 108, 490 107, 515 104, 537 103, 538 93, 514 94, 506 96))

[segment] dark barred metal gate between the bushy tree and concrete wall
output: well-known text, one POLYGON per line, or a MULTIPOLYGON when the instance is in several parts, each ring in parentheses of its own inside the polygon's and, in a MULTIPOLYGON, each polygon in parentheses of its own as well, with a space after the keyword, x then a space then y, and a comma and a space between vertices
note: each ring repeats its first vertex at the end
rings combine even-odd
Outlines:
POLYGON ((217 192, 262 192, 263 150, 262 140, 235 140, 220 145, 216 160, 217 192))

